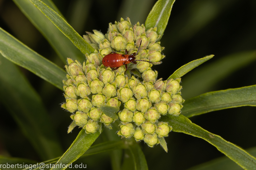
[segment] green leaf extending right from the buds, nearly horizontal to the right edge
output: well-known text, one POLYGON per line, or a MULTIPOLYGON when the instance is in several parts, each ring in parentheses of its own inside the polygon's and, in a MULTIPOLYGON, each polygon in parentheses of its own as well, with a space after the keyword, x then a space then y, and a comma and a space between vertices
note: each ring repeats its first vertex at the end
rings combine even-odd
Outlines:
POLYGON ((192 117, 215 110, 256 106, 256 85, 205 93, 183 103, 182 115, 192 117))

